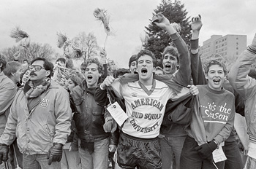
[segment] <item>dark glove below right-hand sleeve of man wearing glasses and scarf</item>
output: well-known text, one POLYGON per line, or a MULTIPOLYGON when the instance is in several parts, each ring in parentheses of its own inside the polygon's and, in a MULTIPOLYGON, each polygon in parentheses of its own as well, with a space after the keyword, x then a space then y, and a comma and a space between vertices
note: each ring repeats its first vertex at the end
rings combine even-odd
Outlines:
POLYGON ((49 149, 47 159, 48 165, 51 165, 52 162, 60 162, 62 157, 62 144, 53 144, 49 149))

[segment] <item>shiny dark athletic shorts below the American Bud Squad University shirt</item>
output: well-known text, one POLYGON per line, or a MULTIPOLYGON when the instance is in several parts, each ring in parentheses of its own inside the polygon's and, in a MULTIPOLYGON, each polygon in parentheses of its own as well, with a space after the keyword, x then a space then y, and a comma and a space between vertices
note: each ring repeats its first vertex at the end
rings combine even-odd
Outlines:
POLYGON ((162 168, 159 138, 135 138, 120 133, 117 162, 121 168, 162 168))

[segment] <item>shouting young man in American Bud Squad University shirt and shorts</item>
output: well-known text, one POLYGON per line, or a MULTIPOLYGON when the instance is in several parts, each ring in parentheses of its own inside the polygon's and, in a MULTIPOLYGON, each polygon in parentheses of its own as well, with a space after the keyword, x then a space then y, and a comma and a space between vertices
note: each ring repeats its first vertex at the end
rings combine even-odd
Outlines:
POLYGON ((117 148, 121 168, 162 168, 158 135, 165 105, 169 99, 197 95, 197 87, 181 87, 168 75, 165 80, 157 80, 153 75, 155 63, 154 54, 142 50, 137 56, 137 75, 127 74, 118 79, 107 76, 95 92, 95 101, 99 104, 106 102, 107 87, 124 98, 128 118, 120 127, 117 148))

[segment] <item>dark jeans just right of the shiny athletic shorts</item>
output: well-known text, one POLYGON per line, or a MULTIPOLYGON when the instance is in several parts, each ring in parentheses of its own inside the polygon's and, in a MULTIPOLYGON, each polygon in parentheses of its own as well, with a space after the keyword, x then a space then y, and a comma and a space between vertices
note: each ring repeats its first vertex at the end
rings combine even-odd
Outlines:
POLYGON ((187 136, 165 136, 159 138, 162 169, 170 169, 173 166, 173 157, 176 160, 176 168, 179 169, 181 149, 187 136), (173 156, 174 154, 174 156, 173 156))

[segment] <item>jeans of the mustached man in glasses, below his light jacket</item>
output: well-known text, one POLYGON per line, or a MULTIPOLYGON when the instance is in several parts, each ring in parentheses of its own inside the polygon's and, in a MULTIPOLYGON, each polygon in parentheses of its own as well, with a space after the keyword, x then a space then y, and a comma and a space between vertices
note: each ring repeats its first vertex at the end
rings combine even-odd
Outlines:
POLYGON ((48 165, 47 154, 23 154, 23 168, 26 169, 61 169, 61 162, 48 165))

